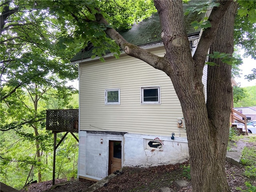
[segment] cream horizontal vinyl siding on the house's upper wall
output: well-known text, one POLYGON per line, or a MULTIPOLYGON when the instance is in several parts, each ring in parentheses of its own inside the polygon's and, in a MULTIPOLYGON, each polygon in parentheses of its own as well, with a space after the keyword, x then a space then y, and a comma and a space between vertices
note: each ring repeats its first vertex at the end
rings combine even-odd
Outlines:
POLYGON ((164 72, 127 55, 80 64, 79 72, 80 130, 186 137, 186 130, 177 127, 177 118, 183 117, 180 102, 164 72), (161 104, 141 105, 141 87, 154 85, 161 86, 161 104), (120 88, 120 105, 105 105, 108 88, 120 88))

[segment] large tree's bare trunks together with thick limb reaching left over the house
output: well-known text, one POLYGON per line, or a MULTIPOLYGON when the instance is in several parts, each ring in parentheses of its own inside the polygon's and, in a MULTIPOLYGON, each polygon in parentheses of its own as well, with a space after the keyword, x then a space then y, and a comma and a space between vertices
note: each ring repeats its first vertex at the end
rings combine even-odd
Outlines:
MULTIPOLYGON (((211 27, 202 32, 193 57, 184 27, 182 1, 154 0, 166 49, 164 58, 129 44, 113 28, 105 31, 126 54, 164 71, 171 78, 184 114, 194 192, 230 191, 226 182, 225 159, 232 98, 231 67, 223 63, 217 63, 220 67, 209 67, 207 104, 202 84, 206 55, 214 37, 214 51, 233 51, 236 2, 219 2, 220 6, 212 9, 208 19, 211 27), (226 46, 227 49, 219 49, 226 46)), ((96 14, 96 20, 107 24, 100 13, 96 14)))

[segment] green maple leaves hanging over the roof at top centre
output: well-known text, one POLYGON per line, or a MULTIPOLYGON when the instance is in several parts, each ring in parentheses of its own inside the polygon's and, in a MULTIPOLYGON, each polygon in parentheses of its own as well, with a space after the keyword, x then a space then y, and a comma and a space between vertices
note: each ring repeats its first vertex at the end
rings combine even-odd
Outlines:
POLYGON ((106 55, 106 51, 120 54, 115 41, 108 38, 104 30, 114 28, 127 30, 134 22, 149 17, 156 12, 152 0, 109 0, 109 1, 39 1, 37 8, 47 12, 51 23, 58 26, 61 36, 58 38, 59 50, 71 50, 73 53, 86 48, 88 42, 93 44, 92 58, 106 55), (100 10, 98 9, 100 8, 100 10), (108 25, 97 22, 100 13, 108 25), (58 19, 56 19, 58 18, 58 19), (68 24, 67 24, 68 23, 68 24))

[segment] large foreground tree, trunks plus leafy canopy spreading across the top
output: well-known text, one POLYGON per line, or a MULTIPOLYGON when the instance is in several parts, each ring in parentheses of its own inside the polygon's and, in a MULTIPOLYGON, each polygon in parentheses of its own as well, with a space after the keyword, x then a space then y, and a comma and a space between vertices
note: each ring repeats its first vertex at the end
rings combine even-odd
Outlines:
POLYGON ((192 57, 184 30, 182 1, 1 0, 1 101, 11 110, 9 106, 19 98, 22 87, 32 87, 34 95, 40 95, 39 89, 61 87, 61 79, 76 78, 77 72, 67 64, 68 60, 89 43, 94 47, 94 57, 102 57, 109 50, 118 58, 123 50, 164 71, 172 80, 187 125, 194 191, 229 191, 223 170, 232 94, 231 66, 220 58, 232 55, 234 40, 246 55, 256 58, 256 2, 217 3, 197 10, 210 9, 211 14, 199 24, 204 30, 192 57), (156 11, 166 49, 162 58, 130 44, 118 33, 156 11), (205 104, 201 80, 209 49, 215 58, 209 60, 213 66, 208 66, 205 104), (15 97, 11 97, 14 93, 15 97), (214 177, 207 174, 209 171, 214 172, 214 177))

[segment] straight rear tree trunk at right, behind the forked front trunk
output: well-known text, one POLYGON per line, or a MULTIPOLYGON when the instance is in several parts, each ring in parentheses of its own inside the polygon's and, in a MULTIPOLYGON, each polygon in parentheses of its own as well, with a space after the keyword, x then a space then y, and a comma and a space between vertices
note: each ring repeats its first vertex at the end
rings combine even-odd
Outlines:
MULTIPOLYGON (((217 51, 229 53, 234 51, 234 19, 237 3, 232 2, 222 22, 218 25, 217 34, 210 46, 210 53, 217 51)), ((209 59, 216 66, 208 66, 207 103, 210 128, 210 164, 206 164, 208 186, 203 191, 230 191, 226 181, 225 162, 230 128, 230 112, 232 106, 231 66, 220 59, 209 59), (212 187, 214 186, 214 190, 212 187)), ((197 168, 200 164, 194 162, 192 174, 202 174, 197 168)), ((193 180, 193 183, 198 182, 193 180)), ((194 184, 195 185, 195 184, 194 184)), ((199 190, 194 190, 199 191, 199 190)), ((202 190, 201 190, 202 191, 202 190)))

